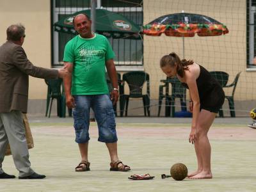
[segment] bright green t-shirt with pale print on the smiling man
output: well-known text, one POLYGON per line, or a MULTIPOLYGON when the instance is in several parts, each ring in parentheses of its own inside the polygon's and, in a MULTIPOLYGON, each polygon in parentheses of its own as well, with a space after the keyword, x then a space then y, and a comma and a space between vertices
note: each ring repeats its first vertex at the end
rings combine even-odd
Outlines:
POLYGON ((108 39, 97 33, 93 38, 75 36, 65 46, 63 61, 73 63, 72 95, 99 95, 109 93, 106 83, 106 61, 115 53, 108 39))

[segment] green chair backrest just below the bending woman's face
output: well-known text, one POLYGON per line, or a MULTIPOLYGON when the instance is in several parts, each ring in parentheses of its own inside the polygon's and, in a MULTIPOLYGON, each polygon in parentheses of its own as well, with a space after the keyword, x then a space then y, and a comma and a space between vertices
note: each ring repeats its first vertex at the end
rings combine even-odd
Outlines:
POLYGON ((168 77, 168 82, 172 84, 172 97, 184 98, 186 100, 186 88, 177 77, 168 77))

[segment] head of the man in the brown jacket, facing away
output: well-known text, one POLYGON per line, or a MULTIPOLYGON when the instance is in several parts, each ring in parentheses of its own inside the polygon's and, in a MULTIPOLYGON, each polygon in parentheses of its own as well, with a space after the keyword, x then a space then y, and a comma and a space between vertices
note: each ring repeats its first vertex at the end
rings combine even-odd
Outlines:
POLYGON ((25 36, 25 27, 22 24, 14 24, 6 29, 7 40, 17 42, 25 36))

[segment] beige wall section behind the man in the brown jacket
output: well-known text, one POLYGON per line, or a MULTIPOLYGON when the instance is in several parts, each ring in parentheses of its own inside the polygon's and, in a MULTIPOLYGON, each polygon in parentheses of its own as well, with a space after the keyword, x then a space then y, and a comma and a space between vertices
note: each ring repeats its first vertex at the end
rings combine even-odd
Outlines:
MULTIPOLYGON (((36 66, 51 68, 51 6, 49 0, 1 0, 0 44, 6 40, 6 28, 22 23, 26 27, 24 47, 36 66)), ((29 77, 29 99, 45 99, 44 79, 29 77)))

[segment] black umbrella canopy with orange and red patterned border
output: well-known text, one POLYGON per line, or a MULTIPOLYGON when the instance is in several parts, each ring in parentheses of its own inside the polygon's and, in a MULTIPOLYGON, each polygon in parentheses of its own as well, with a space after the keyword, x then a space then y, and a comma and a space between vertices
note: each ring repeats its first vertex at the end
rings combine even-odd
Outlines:
POLYGON ((160 36, 218 36, 228 33, 225 25, 217 20, 194 13, 174 13, 161 16, 143 26, 143 34, 160 36))

